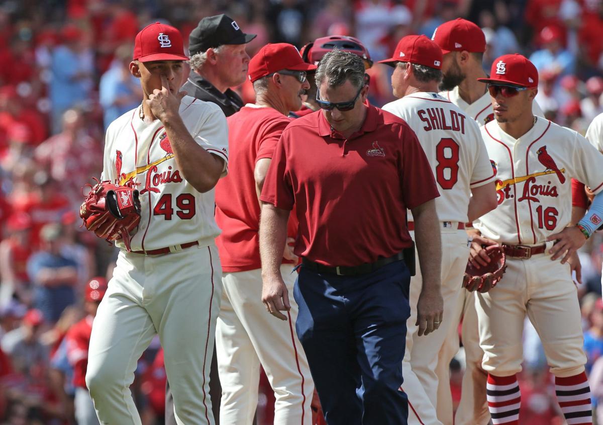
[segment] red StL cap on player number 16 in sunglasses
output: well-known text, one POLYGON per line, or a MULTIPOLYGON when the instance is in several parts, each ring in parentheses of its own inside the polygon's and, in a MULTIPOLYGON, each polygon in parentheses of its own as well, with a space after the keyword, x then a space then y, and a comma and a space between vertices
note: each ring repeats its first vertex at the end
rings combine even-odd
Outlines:
POLYGON ((478 81, 532 88, 538 86, 538 71, 525 56, 519 53, 505 54, 494 59, 490 78, 478 78, 478 81))

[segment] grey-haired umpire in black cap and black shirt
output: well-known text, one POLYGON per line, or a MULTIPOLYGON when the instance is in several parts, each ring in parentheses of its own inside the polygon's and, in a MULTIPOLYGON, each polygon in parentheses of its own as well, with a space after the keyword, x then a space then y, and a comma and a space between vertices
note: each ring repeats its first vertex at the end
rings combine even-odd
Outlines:
POLYGON ((230 117, 243 106, 241 97, 230 88, 247 78, 245 45, 255 37, 243 33, 225 14, 201 19, 189 36, 191 75, 182 89, 189 96, 217 104, 230 117))

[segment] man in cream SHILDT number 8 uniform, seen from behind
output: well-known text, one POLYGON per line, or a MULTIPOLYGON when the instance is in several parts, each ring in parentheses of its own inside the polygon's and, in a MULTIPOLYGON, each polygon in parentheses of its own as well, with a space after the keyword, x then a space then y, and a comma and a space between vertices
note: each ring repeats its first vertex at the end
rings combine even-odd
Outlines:
MULTIPOLYGON (((399 98, 383 109, 403 118, 417 133, 441 194, 435 200, 442 235, 441 291, 444 318, 450 318, 461 291, 464 292, 461 282, 469 254, 465 223, 496 208, 496 190, 478 124, 437 94, 441 62, 440 47, 425 36, 403 37, 393 57, 380 61, 395 67, 391 85, 394 96, 399 98)), ((412 217, 408 220, 414 237, 412 217)), ((435 371, 451 322, 444 321, 429 337, 418 336, 416 305, 421 286, 421 273, 417 273, 411 279, 411 316, 406 323, 408 333, 402 363, 403 388, 412 406, 408 423, 441 424, 435 411, 438 389, 435 371)), ((441 379, 449 384, 447 375, 441 379)))

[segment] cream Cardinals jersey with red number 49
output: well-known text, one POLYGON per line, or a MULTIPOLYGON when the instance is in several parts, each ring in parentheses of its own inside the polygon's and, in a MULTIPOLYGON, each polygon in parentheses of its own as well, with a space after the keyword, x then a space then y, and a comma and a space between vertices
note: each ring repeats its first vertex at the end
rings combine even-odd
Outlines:
MULTIPOLYGON (((103 180, 140 191, 140 225, 131 238, 132 251, 150 251, 203 238, 214 238, 214 193, 199 193, 178 166, 169 138, 159 120, 145 123, 140 107, 125 113, 107 129, 103 180)), ((228 161, 228 127, 213 103, 185 96, 180 117, 195 141, 207 152, 228 161)), ((124 248, 121 241, 116 243, 124 248)))

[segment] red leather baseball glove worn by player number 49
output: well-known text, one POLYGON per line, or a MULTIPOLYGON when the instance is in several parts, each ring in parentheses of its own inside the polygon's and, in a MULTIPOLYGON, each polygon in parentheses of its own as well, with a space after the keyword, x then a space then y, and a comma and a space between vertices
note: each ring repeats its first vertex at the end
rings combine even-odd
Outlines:
POLYGON ((130 236, 136 233, 140 222, 138 191, 109 181, 90 186, 90 192, 80 206, 80 217, 86 229, 110 243, 123 239, 130 252, 130 236))

